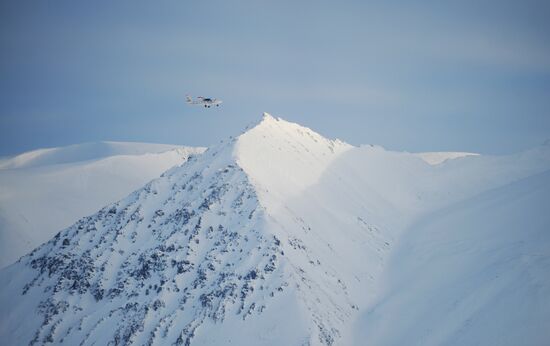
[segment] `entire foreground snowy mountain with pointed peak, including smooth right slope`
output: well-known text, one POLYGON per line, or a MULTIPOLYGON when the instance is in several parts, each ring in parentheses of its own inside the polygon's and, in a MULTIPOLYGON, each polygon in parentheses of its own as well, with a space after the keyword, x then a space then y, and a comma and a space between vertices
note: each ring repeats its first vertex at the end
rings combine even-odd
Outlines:
POLYGON ((428 164, 273 118, 0 271, 6 344, 548 344, 550 149, 428 164))

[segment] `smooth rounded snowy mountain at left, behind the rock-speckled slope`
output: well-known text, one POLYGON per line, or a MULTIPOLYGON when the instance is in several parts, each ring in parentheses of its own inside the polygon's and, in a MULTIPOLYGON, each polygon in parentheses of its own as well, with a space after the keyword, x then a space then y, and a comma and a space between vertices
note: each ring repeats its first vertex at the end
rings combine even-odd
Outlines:
POLYGON ((0 267, 203 148, 99 142, 0 161, 0 267))

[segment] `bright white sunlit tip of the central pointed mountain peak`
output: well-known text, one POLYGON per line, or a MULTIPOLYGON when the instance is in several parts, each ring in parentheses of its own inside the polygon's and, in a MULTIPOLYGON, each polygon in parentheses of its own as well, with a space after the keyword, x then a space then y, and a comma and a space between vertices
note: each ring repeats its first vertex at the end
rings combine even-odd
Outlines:
POLYGON ((351 148, 264 113, 256 126, 237 138, 233 155, 258 191, 281 191, 288 198, 315 184, 331 162, 351 148))

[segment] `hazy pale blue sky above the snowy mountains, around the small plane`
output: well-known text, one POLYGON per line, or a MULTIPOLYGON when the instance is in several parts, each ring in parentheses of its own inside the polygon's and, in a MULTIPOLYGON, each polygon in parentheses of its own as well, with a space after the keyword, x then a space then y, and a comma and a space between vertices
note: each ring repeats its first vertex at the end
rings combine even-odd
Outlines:
POLYGON ((550 138, 549 3, 418 3, 4 0, 0 155, 208 146, 263 111, 397 150, 550 138), (186 93, 224 104, 190 107, 186 93))

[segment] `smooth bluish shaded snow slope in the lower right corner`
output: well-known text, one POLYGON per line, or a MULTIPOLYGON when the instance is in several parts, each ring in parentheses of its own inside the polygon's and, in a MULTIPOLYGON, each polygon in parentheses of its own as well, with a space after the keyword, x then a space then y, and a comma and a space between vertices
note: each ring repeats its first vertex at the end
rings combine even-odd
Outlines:
POLYGON ((547 345, 550 171, 427 215, 404 233, 363 345, 547 345))

